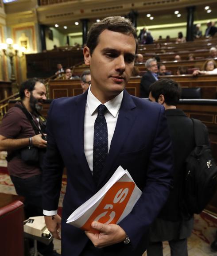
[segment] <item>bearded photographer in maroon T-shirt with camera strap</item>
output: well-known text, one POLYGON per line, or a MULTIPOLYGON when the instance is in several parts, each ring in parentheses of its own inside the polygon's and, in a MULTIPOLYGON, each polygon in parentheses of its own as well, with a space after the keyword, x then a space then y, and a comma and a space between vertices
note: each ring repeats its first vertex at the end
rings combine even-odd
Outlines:
MULTIPOLYGON (((8 110, 0 125, 0 150, 8 151, 8 172, 16 193, 25 198, 27 219, 43 215, 40 156, 47 142, 46 120, 39 111, 46 100, 46 88, 42 81, 31 78, 21 84, 19 95, 21 102, 8 110)), ((49 245, 38 243, 38 250, 43 256, 58 256, 53 248, 52 242, 49 245)))

